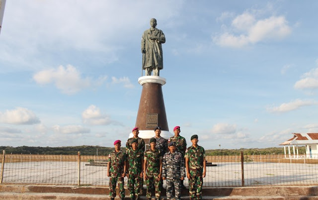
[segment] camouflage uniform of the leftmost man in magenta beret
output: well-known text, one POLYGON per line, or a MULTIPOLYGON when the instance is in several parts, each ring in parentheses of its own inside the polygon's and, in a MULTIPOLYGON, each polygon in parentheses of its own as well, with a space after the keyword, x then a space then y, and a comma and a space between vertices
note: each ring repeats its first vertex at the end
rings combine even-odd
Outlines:
POLYGON ((118 182, 119 196, 125 198, 124 190, 124 161, 126 161, 126 153, 122 150, 116 152, 115 150, 108 155, 108 162, 110 162, 110 178, 109 178, 109 197, 116 197, 116 183, 118 182))

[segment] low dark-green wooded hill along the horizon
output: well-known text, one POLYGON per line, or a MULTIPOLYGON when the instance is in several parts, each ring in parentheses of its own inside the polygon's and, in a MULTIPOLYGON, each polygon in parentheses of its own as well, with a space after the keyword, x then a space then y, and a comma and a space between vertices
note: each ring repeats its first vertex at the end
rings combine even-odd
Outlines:
MULTIPOLYGON (((125 148, 122 148, 125 151, 125 148)), ((46 154, 46 155, 77 155, 78 151, 81 155, 108 155, 109 152, 114 150, 110 147, 101 146, 68 146, 68 147, 10 147, 10 146, 0 146, 0 154, 5 150, 5 154, 46 154)), ((272 148, 252 148, 252 149, 213 149, 206 150, 207 156, 220 156, 220 155, 240 155, 243 151, 244 155, 265 155, 265 154, 284 154, 283 147, 272 147, 272 148)), ((305 147, 298 147, 299 154, 304 154, 306 152, 305 147)))

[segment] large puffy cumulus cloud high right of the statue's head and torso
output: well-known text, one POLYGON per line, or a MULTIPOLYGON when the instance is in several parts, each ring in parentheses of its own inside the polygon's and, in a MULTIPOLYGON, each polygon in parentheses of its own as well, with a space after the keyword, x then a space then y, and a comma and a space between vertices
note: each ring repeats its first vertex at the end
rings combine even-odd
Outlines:
POLYGON ((230 27, 213 36, 213 42, 224 47, 239 48, 266 39, 284 38, 291 33, 291 27, 284 16, 256 19, 255 15, 247 11, 235 17, 230 27))

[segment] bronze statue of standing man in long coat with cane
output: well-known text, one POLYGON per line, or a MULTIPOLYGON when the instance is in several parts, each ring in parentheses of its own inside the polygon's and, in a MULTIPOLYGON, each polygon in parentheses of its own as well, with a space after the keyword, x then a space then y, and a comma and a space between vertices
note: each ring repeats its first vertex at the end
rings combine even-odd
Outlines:
POLYGON ((162 47, 165 42, 164 34, 156 28, 157 20, 150 20, 150 29, 145 30, 141 39, 141 52, 143 53, 143 70, 145 76, 151 76, 154 70, 154 76, 159 76, 159 70, 163 69, 162 47))

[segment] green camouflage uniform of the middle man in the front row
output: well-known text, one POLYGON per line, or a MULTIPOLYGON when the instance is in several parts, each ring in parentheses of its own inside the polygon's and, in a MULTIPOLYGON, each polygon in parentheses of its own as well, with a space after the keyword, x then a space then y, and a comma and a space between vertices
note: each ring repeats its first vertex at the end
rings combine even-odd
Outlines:
POLYGON ((148 149, 145 152, 145 161, 147 160, 147 193, 146 197, 149 199, 151 198, 151 190, 152 186, 155 185, 155 196, 156 199, 160 199, 161 196, 161 181, 157 180, 156 177, 160 174, 160 160, 162 160, 162 156, 160 155, 161 152, 158 149, 155 149, 155 151, 152 151, 151 149, 148 149))

